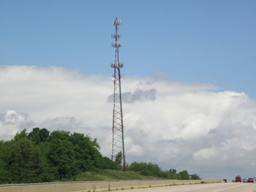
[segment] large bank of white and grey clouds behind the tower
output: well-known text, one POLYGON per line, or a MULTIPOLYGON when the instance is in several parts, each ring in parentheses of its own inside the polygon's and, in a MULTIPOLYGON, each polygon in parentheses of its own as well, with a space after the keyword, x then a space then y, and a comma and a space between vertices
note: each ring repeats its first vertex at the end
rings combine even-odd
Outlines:
MULTIPOLYGON (((252 177, 256 102, 214 85, 154 77, 123 79, 127 161, 187 169, 205 178, 252 177)), ((110 156, 113 82, 59 67, 1 66, 0 137, 22 128, 97 137, 110 156)))

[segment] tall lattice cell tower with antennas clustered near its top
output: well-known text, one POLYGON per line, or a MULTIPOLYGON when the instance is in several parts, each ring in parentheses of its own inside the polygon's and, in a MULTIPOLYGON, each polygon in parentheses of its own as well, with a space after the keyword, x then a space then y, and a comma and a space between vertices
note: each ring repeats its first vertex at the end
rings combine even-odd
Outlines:
POLYGON ((123 170, 125 167, 125 155, 124 155, 124 124, 123 124, 123 109, 121 101, 121 68, 123 64, 119 61, 119 47, 121 43, 118 39, 121 35, 118 34, 118 26, 121 25, 121 20, 116 18, 113 25, 115 26, 116 33, 112 35, 114 42, 112 46, 115 48, 115 61, 111 64, 114 69, 112 80, 114 82, 114 93, 113 93, 113 137, 112 137, 112 154, 111 160, 123 163, 123 170))

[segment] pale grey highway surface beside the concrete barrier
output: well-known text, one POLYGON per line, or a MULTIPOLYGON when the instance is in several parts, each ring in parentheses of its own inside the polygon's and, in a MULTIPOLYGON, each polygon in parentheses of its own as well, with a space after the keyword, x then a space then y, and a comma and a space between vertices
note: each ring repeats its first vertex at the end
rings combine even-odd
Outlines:
MULTIPOLYGON (((159 188, 138 188, 122 192, 256 192, 256 183, 211 183, 196 185, 173 185, 159 188)), ((121 191, 120 191, 121 192, 121 191)))

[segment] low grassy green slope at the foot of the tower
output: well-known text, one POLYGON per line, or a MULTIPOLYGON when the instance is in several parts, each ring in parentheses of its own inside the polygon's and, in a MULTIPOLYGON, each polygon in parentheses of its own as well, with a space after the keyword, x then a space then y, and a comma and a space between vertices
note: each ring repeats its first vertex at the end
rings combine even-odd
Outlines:
POLYGON ((162 177, 145 176, 138 172, 122 172, 118 170, 97 170, 75 175, 69 181, 96 181, 96 180, 164 180, 162 177))

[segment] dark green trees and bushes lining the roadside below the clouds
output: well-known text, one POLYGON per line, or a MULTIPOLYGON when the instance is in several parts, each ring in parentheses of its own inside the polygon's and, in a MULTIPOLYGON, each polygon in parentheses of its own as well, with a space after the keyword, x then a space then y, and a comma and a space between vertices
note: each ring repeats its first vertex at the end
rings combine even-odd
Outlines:
MULTIPOLYGON (((26 129, 10 141, 0 141, 0 184, 45 183, 71 179, 81 172, 97 169, 120 169, 121 161, 113 162, 99 152, 96 139, 79 133, 53 131, 46 128, 26 129)), ((167 179, 200 179, 197 174, 162 171, 157 164, 133 162, 129 171, 167 179)))

